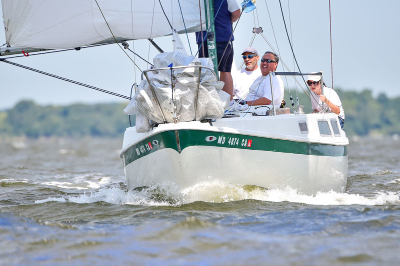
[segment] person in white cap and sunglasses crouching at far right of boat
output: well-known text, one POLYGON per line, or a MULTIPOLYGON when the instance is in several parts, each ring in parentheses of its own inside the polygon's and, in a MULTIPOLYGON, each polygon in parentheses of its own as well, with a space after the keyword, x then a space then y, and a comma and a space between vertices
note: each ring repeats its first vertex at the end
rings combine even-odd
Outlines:
MULTIPOLYGON (((316 73, 316 72, 311 72, 316 73)), ((307 84, 311 90, 311 107, 314 109, 313 112, 322 111, 322 102, 325 103, 325 108, 327 106, 328 111, 337 114, 340 122, 340 127, 343 129, 344 126, 344 110, 341 106, 341 101, 337 93, 325 86, 323 83, 323 94, 321 89, 321 77, 315 75, 308 75, 307 84)))

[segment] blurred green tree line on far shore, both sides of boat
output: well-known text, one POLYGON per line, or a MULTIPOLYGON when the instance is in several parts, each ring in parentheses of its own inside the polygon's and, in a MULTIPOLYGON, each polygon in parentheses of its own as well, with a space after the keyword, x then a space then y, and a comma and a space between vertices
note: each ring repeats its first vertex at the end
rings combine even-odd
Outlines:
MULTIPOLYGON (((370 90, 361 92, 336 89, 344 108, 344 130, 347 136, 369 134, 400 134, 400 115, 397 98, 370 90)), ((291 90, 295 103, 296 92, 291 90)), ((305 93, 298 93, 306 113, 311 104, 305 93)), ((289 94, 285 92, 286 107, 291 109, 289 94)), ((13 108, 0 111, 0 135, 38 137, 120 137, 129 126, 129 118, 122 113, 126 103, 71 104, 41 106, 33 101, 20 101, 13 108)), ((292 112, 292 110, 291 110, 292 112)), ((134 125, 134 117, 131 117, 134 125)))

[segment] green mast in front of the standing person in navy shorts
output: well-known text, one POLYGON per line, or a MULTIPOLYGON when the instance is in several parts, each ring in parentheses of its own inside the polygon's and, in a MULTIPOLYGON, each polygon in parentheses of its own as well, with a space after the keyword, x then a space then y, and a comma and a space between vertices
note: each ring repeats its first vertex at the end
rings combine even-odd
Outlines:
POLYGON ((212 63, 214 64, 214 72, 219 79, 218 76, 218 59, 216 57, 216 40, 215 40, 215 27, 214 23, 214 1, 213 0, 204 0, 204 10, 205 10, 205 25, 209 31, 207 31, 207 48, 208 48, 208 57, 211 58, 212 63))

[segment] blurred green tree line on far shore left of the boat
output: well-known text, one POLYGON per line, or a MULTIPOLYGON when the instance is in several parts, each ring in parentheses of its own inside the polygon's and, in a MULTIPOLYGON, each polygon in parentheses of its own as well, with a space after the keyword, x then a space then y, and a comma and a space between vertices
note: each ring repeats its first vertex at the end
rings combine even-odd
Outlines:
MULTIPOLYGON (((127 104, 127 103, 126 103, 127 104)), ((120 137, 129 126, 125 103, 40 106, 20 101, 0 112, 0 134, 37 137, 120 137)), ((134 125, 134 118, 132 119, 134 125)))

